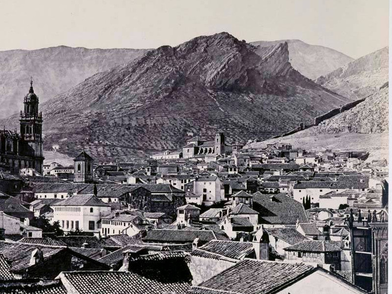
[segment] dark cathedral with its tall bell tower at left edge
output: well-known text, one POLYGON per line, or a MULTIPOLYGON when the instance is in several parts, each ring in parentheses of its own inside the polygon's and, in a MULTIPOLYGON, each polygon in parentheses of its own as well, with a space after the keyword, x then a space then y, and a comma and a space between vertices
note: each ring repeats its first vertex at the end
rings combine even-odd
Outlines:
POLYGON ((42 173, 44 163, 42 140, 42 113, 38 111, 38 96, 33 81, 24 98, 24 111, 20 115, 20 133, 0 130, 0 171, 19 173, 20 169, 32 168, 42 173))

